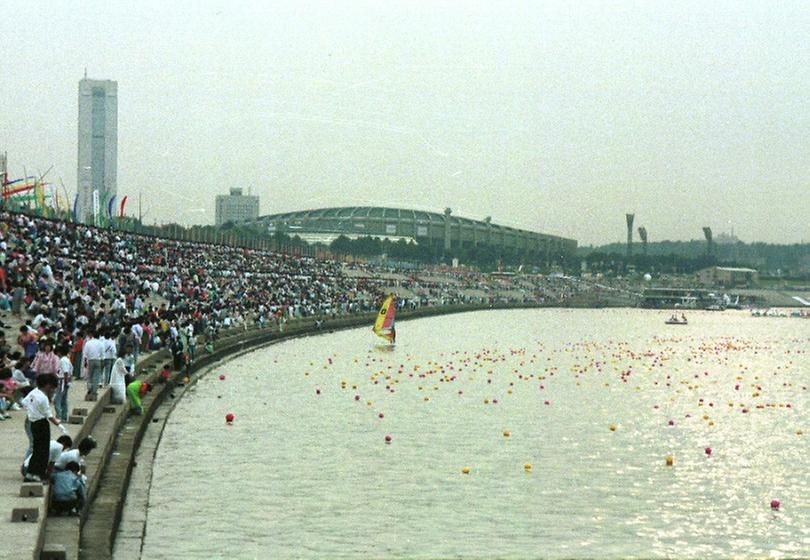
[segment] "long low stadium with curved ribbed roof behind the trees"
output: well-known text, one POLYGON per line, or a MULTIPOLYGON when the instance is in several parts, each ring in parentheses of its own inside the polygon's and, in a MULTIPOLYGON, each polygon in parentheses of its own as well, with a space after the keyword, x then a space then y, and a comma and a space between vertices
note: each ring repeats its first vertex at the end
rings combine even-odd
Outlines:
POLYGON ((490 247, 503 254, 554 262, 573 255, 577 248, 574 239, 493 224, 488 217, 462 218, 450 208, 442 214, 379 206, 321 208, 261 216, 254 225, 310 242, 329 243, 341 235, 414 240, 447 255, 490 247))

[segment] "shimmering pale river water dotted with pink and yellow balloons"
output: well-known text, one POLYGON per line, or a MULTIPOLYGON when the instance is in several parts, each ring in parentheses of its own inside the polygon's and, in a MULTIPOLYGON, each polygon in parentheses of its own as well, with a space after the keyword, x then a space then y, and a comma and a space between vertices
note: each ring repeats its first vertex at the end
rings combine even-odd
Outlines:
POLYGON ((810 321, 666 316, 476 312, 227 363, 168 420, 143 558, 810 555, 810 321))

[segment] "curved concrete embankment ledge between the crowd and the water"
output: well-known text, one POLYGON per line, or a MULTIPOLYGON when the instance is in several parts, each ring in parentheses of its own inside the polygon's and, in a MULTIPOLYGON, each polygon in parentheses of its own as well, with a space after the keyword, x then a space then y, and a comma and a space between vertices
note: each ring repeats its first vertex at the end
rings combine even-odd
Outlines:
MULTIPOLYGON (((530 307, 548 306, 502 304, 430 307, 420 308, 414 311, 403 311, 399 313, 397 318, 400 321, 404 321, 450 313, 530 307)), ((365 313, 351 317, 331 319, 327 321, 321 329, 316 327, 314 321, 302 320, 289 323, 284 332, 278 332, 275 329, 263 329, 230 334, 217 342, 213 353, 199 356, 198 359, 195 360, 189 370, 191 377, 190 382, 193 383, 199 375, 210 370, 215 364, 223 360, 232 359, 246 351, 255 350, 292 337, 324 334, 339 329, 368 326, 371 324, 374 317, 374 313, 365 313)), ((158 359, 153 364, 149 364, 146 379, 151 381, 156 380, 160 363, 162 362, 158 359)), ((162 430, 162 422, 165 421, 166 414, 171 410, 171 403, 174 402, 172 399, 174 398, 176 400, 184 390, 184 387, 178 387, 175 383, 169 385, 155 384, 154 390, 144 398, 144 414, 142 416, 127 416, 126 413, 122 414, 124 420, 121 423, 121 428, 118 430, 116 437, 110 438, 111 441, 108 450, 109 459, 106 461, 105 468, 99 477, 97 484, 98 491, 95 495, 95 499, 88 508, 86 519, 84 519, 80 527, 81 546, 80 553, 78 554, 79 558, 95 560, 112 557, 113 544, 121 521, 123 507, 127 500, 127 492, 130 490, 133 467, 139 470, 151 470, 151 461, 154 458, 154 451, 151 454, 144 454, 145 456, 141 458, 136 467, 135 457, 138 447, 144 438, 147 428, 150 428, 150 425, 154 425, 156 431, 162 430), (167 399, 169 399, 168 402, 167 399), (164 403, 165 408, 161 410, 165 412, 161 412, 159 415, 160 418, 156 419, 159 421, 153 424, 156 411, 158 411, 164 403), (149 464, 145 464, 144 460, 148 460, 149 464)), ((153 448, 157 447, 157 441, 153 439, 153 436, 150 436, 150 442, 153 448)), ((143 484, 144 482, 148 482, 149 478, 148 475, 139 475, 138 480, 143 484)), ((148 487, 138 487, 132 488, 132 490, 146 494, 149 489, 148 487)), ((138 501, 145 506, 146 500, 139 499, 138 501)), ((128 542, 119 543, 123 544, 121 550, 127 550, 127 557, 138 557, 140 552, 140 544, 143 537, 142 527, 145 525, 145 511, 142 516, 136 515, 135 517, 135 523, 128 528, 126 535, 122 535, 128 542), (138 529, 139 526, 140 529, 138 529), (134 529, 132 527, 134 527, 134 529)), ((78 532, 76 537, 78 540, 78 532)), ((48 539, 46 539, 46 542, 47 541, 48 539)), ((67 558, 75 557, 77 556, 67 556, 67 558)))

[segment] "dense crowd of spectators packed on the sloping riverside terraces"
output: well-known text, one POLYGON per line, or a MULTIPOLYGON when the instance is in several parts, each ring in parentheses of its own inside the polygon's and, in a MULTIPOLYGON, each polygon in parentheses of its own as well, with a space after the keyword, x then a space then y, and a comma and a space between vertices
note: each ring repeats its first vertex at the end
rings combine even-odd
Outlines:
MULTIPOLYGON (((111 400, 139 412, 139 355, 168 348, 171 371, 222 329, 283 328, 289 320, 376 309, 389 291, 400 307, 567 297, 577 284, 472 271, 392 271, 269 251, 177 241, 0 212, 0 420, 25 414, 28 481, 54 484, 80 509, 81 468, 92 440, 73 449, 70 403, 111 400), (16 338, 11 332, 14 331, 16 338), (77 389, 77 384, 83 384, 77 389), (53 405, 53 412, 51 411, 53 405), (62 432, 55 441, 50 428, 62 432)), ((63 504, 64 506, 64 504, 63 504)))

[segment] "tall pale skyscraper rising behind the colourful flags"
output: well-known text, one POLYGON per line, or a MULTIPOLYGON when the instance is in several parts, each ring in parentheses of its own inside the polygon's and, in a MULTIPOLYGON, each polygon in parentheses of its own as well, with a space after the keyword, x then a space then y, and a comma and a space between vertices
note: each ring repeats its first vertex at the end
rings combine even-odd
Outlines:
MULTIPOLYGON (((100 225, 118 192, 118 83, 79 81, 79 164, 77 214, 100 225)), ((113 209, 113 215, 115 210, 113 209)))

